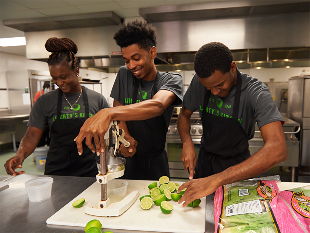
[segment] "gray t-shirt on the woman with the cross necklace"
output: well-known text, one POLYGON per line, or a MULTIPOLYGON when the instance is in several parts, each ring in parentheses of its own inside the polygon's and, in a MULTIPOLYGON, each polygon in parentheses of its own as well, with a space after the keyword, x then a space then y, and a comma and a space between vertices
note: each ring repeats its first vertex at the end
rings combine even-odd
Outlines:
MULTIPOLYGON (((89 117, 94 116, 103 108, 108 108, 108 102, 98 92, 89 90, 85 87, 89 105, 89 117)), ((29 122, 27 126, 33 126, 41 130, 45 130, 47 126, 51 129, 51 125, 57 118, 57 100, 58 100, 58 89, 52 90, 40 96, 37 101, 33 104, 30 112, 29 122)), ((69 94, 65 93, 70 104, 75 103, 79 93, 69 94)), ((62 96, 62 106, 61 106, 61 120, 76 119, 85 116, 85 106, 83 100, 83 94, 81 95, 78 103, 73 106, 73 111, 70 110, 71 106, 67 100, 62 96)))

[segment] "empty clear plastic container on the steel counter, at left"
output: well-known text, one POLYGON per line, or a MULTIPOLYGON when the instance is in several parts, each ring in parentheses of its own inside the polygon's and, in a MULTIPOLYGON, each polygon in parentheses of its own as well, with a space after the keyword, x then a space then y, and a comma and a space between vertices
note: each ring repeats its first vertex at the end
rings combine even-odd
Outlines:
POLYGON ((51 197, 53 178, 38 177, 25 182, 30 202, 41 202, 51 197))

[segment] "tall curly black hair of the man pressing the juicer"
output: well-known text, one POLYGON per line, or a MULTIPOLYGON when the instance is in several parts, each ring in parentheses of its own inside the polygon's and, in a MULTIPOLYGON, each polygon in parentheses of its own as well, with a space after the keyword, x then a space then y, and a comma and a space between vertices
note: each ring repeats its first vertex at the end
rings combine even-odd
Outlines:
POLYGON ((121 24, 113 39, 121 48, 138 44, 139 48, 150 50, 153 46, 156 47, 157 33, 152 24, 135 20, 121 24))

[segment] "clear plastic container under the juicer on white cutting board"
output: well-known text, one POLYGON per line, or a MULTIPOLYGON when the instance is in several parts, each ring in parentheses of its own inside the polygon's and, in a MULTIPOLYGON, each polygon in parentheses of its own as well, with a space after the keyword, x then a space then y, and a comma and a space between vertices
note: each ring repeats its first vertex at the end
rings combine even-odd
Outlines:
POLYGON ((107 195, 111 203, 123 200, 126 197, 128 182, 126 180, 111 180, 107 184, 107 195))

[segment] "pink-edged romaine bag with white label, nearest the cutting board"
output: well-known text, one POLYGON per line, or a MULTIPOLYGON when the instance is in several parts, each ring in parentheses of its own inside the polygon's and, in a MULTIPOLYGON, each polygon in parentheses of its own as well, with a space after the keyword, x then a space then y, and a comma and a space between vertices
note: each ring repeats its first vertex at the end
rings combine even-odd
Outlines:
POLYGON ((275 180, 245 180, 219 187, 214 198, 215 233, 304 233, 275 180))

